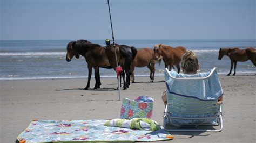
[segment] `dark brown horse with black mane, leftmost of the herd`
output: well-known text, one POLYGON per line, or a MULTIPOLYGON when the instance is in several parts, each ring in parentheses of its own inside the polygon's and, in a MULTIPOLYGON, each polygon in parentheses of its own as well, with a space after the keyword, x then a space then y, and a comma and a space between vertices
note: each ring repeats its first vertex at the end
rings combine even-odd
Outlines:
MULTIPOLYGON (((107 55, 107 48, 102 47, 98 44, 93 44, 87 40, 78 40, 78 41, 72 41, 69 42, 67 45, 67 54, 66 54, 66 61, 71 61, 73 56, 75 55, 76 58, 79 58, 79 55, 84 56, 89 74, 88 74, 88 82, 86 87, 84 88, 87 90, 90 87, 90 80, 91 80, 91 73, 92 73, 92 67, 95 69, 95 89, 100 88, 101 82, 100 82, 100 76, 99 76, 99 67, 102 68, 114 68, 115 65, 111 65, 109 62, 112 61, 112 59, 115 60, 115 56, 109 56, 107 55)), ((123 48, 122 48, 123 49, 123 48)), ((125 52, 125 50, 121 50, 122 52, 125 52)), ((120 65, 120 62, 125 63, 125 61, 120 61, 120 57, 123 57, 126 53, 118 54, 119 56, 118 65, 120 65)), ((123 58, 125 59, 125 58, 123 58)), ((130 66, 130 65, 129 65, 130 66)), ((125 66, 124 66, 125 67, 125 66)), ((122 74, 123 80, 124 80, 124 73, 122 74)), ((127 89, 127 86, 124 82, 124 89, 127 89)))

